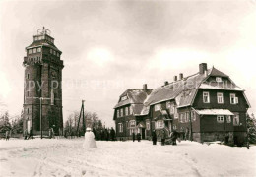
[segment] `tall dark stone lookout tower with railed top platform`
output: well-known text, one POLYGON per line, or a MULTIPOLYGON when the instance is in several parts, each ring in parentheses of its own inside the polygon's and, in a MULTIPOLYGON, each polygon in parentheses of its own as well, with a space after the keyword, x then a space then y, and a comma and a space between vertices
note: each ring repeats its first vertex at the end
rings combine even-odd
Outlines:
POLYGON ((63 129, 62 114, 62 69, 61 51, 54 45, 54 38, 48 29, 38 29, 33 42, 26 47, 24 57, 24 130, 32 128, 35 135, 40 134, 40 97, 41 127, 43 134, 53 128, 56 134, 63 129))

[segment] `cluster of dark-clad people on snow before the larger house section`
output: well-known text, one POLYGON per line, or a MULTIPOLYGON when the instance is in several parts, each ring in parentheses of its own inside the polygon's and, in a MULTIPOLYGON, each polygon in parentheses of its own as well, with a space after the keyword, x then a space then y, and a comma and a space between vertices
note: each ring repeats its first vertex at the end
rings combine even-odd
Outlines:
MULTIPOLYGON (((167 135, 167 132, 163 129, 161 130, 160 134, 160 143, 162 146, 165 145, 165 141, 166 139, 168 140, 168 143, 171 145, 177 145, 177 138, 179 137, 178 133, 174 130, 173 132, 170 133, 170 136, 167 135)), ((156 133, 156 130, 153 130, 152 132, 152 142, 153 145, 157 145, 157 140, 158 140, 158 136, 156 133)))

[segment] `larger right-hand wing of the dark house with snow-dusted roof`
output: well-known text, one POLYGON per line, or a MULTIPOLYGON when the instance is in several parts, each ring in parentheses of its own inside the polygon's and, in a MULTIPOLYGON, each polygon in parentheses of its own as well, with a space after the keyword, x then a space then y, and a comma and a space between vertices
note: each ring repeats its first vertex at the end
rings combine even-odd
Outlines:
MULTIPOLYGON (((244 89, 218 69, 208 69, 206 63, 199 65, 196 74, 183 77, 181 73, 179 79, 174 76, 173 82, 152 90, 142 105, 140 124, 148 122, 149 138, 151 131, 165 129, 197 142, 224 141, 227 135, 234 144, 245 141, 250 104, 244 89)), ((119 136, 118 126, 116 130, 119 136)))

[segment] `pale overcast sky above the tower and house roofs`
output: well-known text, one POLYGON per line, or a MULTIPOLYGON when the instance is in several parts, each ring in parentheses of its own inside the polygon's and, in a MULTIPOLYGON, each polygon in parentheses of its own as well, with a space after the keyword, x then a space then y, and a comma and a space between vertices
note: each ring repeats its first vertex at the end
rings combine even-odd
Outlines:
POLYGON ((0 100, 23 108, 23 57, 32 35, 51 30, 63 52, 64 119, 96 111, 113 126, 119 95, 147 83, 156 89, 198 64, 229 75, 256 107, 256 2, 0 1, 0 100))

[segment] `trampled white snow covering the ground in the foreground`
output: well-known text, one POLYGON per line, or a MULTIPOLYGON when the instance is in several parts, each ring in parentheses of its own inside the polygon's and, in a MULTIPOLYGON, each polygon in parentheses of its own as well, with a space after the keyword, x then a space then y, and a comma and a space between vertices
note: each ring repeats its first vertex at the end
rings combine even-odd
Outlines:
POLYGON ((103 142, 84 139, 0 140, 0 176, 256 176, 256 147, 182 141, 103 142))

